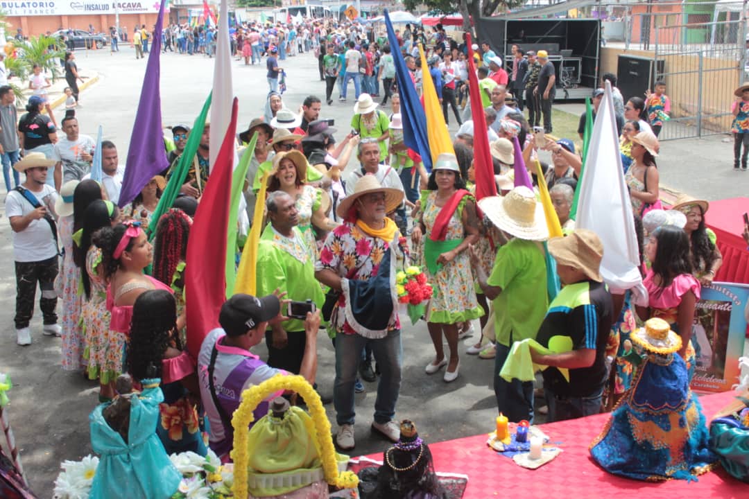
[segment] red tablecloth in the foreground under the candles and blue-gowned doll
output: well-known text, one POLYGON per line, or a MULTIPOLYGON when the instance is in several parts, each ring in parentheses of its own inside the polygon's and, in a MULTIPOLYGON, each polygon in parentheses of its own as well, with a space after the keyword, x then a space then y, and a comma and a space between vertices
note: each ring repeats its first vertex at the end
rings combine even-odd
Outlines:
MULTIPOLYGON (((706 417, 727 405, 733 392, 700 397, 706 417)), ((723 468, 704 474, 699 481, 685 480, 649 483, 608 474, 590 459, 590 442, 601 432, 610 414, 541 425, 552 442, 560 442, 563 452, 557 459, 536 470, 515 465, 486 445, 486 434, 429 444, 434 468, 446 473, 468 475, 464 499, 506 496, 544 499, 585 498, 747 498, 749 487, 727 474, 723 468)), ((416 422, 418 424, 418 422, 416 422)), ((491 421, 487 422, 487 429, 491 421)), ((367 456, 382 460, 382 453, 367 456)))

